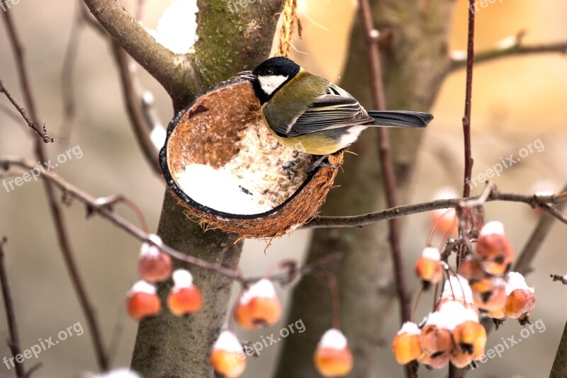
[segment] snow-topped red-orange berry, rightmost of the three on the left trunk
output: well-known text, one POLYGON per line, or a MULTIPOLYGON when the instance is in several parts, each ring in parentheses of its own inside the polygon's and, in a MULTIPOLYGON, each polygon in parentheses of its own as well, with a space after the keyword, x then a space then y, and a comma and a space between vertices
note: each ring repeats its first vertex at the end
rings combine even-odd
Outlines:
POLYGON ((203 297, 193 285, 193 277, 188 270, 178 269, 173 273, 174 287, 167 296, 167 307, 176 316, 191 314, 201 309, 203 297))

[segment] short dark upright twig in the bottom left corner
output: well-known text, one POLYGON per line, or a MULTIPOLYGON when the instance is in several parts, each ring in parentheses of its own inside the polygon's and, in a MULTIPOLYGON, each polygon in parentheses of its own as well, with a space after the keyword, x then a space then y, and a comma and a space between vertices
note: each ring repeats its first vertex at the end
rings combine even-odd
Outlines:
MULTIPOLYGON (((16 355, 21 355, 20 337, 18 336, 18 326, 16 324, 16 314, 13 309, 12 295, 8 284, 8 275, 6 274, 6 266, 4 265, 4 244, 6 244, 6 237, 2 236, 0 239, 0 284, 2 285, 2 298, 4 299, 4 309, 6 309, 6 321, 10 332, 10 339, 8 346, 14 359, 16 355)), ((16 377, 25 378, 26 370, 23 368, 23 362, 16 360, 16 377)))

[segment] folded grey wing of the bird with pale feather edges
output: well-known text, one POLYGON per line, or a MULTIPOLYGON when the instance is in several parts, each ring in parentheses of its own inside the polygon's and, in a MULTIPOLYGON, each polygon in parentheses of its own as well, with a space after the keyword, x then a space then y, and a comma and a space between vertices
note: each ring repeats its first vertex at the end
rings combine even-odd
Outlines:
POLYGON ((374 118, 347 91, 330 84, 327 93, 315 100, 313 105, 301 114, 291 125, 277 127, 274 131, 286 137, 337 129, 340 127, 364 125, 374 118))

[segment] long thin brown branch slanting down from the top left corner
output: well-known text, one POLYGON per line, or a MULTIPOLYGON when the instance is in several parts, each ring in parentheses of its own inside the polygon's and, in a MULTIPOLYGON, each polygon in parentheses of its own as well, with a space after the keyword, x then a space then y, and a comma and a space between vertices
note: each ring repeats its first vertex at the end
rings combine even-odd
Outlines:
MULTIPOLYGON (((16 33, 16 28, 11 19, 10 12, 4 12, 3 16, 6 23, 6 28, 8 30, 9 40, 14 52, 14 57, 16 59, 18 78, 20 80, 23 96, 26 100, 26 106, 30 112, 31 119, 37 120, 38 113, 36 113, 35 111, 35 104, 33 101, 30 82, 28 79, 28 71, 26 70, 26 63, 23 58, 23 45, 20 42, 18 33, 16 33)), ((43 144, 40 143, 38 139, 36 139, 35 141, 35 157, 39 161, 47 161, 47 155, 45 154, 43 144)), ((109 367, 108 357, 104 351, 101 330, 96 319, 94 306, 92 305, 91 300, 86 294, 86 289, 82 281, 82 277, 79 274, 79 268, 77 267, 77 263, 74 258, 74 253, 72 251, 69 236, 67 233, 67 227, 64 224, 60 203, 58 202, 57 195, 55 194, 55 188, 53 188, 52 184, 48 181, 44 181, 44 183, 45 193, 50 205, 50 212, 52 214, 53 223, 55 224, 57 241, 59 241, 61 252, 63 254, 63 260, 65 262, 65 265, 67 265, 67 270, 69 271, 73 286, 77 291, 77 296, 79 297, 79 304, 82 307, 86 322, 89 326, 89 330, 91 331, 94 352, 96 354, 96 360, 98 362, 99 368, 102 371, 106 371, 109 367)))

